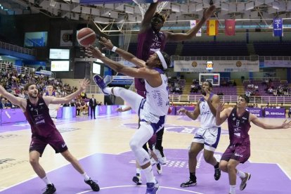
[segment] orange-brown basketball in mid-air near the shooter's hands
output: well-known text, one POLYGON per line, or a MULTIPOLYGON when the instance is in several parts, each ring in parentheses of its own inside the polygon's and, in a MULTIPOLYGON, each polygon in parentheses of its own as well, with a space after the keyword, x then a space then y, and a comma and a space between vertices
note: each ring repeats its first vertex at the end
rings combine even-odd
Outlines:
POLYGON ((90 46, 91 44, 94 43, 95 40, 96 40, 96 34, 89 27, 84 27, 81 30, 79 30, 79 32, 77 33, 77 41, 82 46, 90 46))

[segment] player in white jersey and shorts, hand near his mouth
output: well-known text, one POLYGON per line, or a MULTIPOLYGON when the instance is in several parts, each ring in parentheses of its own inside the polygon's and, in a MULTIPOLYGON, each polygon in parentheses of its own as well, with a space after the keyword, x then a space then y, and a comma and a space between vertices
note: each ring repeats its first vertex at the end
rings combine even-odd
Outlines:
POLYGON ((219 143, 221 128, 215 123, 216 108, 220 103, 219 96, 212 91, 211 82, 202 83, 202 98, 198 101, 194 112, 188 112, 184 108, 178 110, 178 113, 186 114, 191 119, 195 120, 200 115, 200 125, 195 134, 193 141, 190 145, 189 150, 189 180, 185 183, 181 183, 181 187, 195 186, 197 184, 196 178, 196 165, 197 165, 197 156, 201 150, 204 148, 204 159, 205 162, 212 164, 214 166, 214 179, 217 181, 221 176, 219 169, 219 162, 216 161, 214 157, 214 151, 217 148, 219 143))

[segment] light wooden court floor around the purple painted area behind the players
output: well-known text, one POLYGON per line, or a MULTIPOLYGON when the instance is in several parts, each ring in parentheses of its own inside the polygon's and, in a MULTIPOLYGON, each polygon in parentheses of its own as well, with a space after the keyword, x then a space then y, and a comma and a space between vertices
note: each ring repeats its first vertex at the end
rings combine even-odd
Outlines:
MULTIPOLYGON (((285 120, 262 119, 269 124, 280 124, 285 120)), ((137 120, 136 115, 124 113, 97 119, 84 116, 81 119, 60 120, 57 128, 72 155, 81 159, 94 153, 119 154, 129 151, 129 139, 136 130, 137 120)), ((169 116, 164 132, 164 148, 185 149, 187 152, 199 126, 200 121, 191 121, 186 116, 169 116)), ((222 129, 223 135, 216 150, 219 153, 224 152, 229 142, 226 122, 222 124, 222 129)), ((36 177, 28 160, 30 137, 27 124, 0 126, 0 190, 36 177)), ((250 138, 250 162, 277 163, 287 176, 291 176, 291 129, 266 130, 252 124, 250 138)), ((60 154, 56 155, 48 145, 40 163, 49 172, 68 162, 60 154)))

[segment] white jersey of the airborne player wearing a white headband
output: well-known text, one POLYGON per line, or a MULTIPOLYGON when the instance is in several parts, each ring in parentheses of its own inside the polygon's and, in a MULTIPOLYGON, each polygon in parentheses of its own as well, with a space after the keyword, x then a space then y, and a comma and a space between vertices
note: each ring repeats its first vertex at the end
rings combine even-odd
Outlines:
POLYGON ((168 114, 169 110, 169 91, 168 80, 164 74, 160 74, 162 84, 153 88, 145 81, 146 101, 143 105, 141 119, 148 122, 157 123, 160 116, 168 114))

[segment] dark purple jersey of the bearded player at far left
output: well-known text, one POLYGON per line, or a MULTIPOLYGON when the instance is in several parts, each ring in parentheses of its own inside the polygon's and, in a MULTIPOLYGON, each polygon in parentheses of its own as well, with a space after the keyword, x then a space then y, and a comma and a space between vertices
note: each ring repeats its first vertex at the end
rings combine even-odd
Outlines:
POLYGON ((27 121, 30 123, 32 136, 48 137, 52 133, 58 131, 49 115, 48 106, 41 96, 39 96, 37 105, 33 105, 30 100, 27 99, 27 106, 24 114, 27 121))

